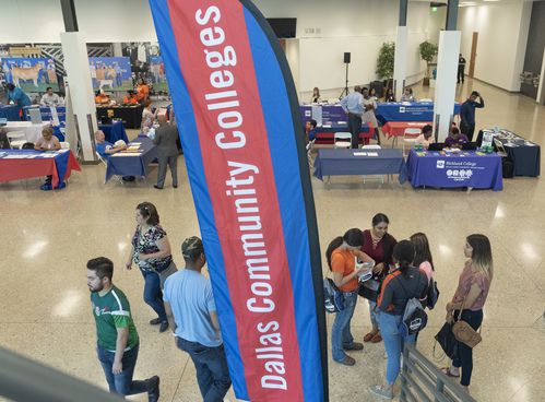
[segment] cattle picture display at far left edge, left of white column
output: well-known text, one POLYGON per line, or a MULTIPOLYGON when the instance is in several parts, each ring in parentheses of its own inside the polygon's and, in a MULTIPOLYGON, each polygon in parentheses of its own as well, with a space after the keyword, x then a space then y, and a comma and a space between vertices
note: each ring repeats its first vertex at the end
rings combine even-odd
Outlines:
POLYGON ((5 82, 19 86, 24 92, 46 92, 48 86, 59 91, 54 59, 2 57, 0 66, 5 82))

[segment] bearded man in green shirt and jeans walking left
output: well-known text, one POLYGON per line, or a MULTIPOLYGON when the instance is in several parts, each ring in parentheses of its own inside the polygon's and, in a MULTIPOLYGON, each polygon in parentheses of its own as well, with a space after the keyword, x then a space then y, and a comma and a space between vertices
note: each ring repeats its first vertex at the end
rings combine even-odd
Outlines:
POLYGON ((105 257, 87 261, 87 286, 96 322, 97 354, 109 391, 120 395, 147 392, 150 402, 159 399, 159 378, 133 381, 139 338, 125 294, 114 286, 114 263, 105 257))

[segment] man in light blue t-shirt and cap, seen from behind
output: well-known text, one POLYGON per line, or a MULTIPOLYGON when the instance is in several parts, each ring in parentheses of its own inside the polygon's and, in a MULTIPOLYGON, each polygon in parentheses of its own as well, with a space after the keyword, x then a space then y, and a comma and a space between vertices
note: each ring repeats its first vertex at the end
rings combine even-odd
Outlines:
POLYGON ((189 353, 204 401, 223 401, 230 387, 216 305, 210 280, 201 271, 206 263, 199 237, 181 245, 186 269, 165 281, 163 300, 176 345, 189 353))

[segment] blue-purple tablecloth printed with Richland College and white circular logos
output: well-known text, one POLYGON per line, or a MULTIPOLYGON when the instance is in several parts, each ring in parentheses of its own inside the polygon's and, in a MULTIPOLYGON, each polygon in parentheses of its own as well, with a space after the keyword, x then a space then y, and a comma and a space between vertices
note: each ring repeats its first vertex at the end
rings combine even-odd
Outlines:
POLYGON ((503 188, 501 157, 497 154, 422 152, 411 150, 407 158, 408 180, 413 187, 503 188))

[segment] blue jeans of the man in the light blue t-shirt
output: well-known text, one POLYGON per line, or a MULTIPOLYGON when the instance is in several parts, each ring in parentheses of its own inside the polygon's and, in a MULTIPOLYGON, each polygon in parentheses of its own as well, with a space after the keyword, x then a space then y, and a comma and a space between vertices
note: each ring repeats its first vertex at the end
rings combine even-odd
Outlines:
POLYGON ((229 368, 223 345, 209 347, 176 338, 178 348, 189 353, 204 402, 222 402, 230 388, 229 368))

